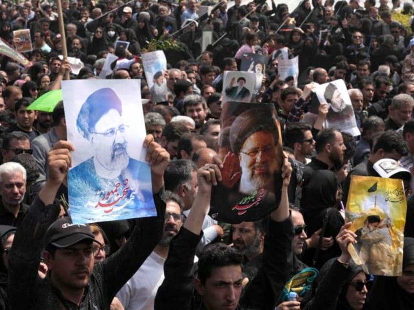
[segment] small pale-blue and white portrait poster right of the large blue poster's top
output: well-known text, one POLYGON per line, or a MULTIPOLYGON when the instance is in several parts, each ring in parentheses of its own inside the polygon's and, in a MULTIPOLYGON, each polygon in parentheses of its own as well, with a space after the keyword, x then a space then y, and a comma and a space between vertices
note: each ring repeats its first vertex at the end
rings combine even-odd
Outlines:
POLYGON ((144 53, 142 61, 152 101, 167 101, 166 55, 163 51, 144 53))

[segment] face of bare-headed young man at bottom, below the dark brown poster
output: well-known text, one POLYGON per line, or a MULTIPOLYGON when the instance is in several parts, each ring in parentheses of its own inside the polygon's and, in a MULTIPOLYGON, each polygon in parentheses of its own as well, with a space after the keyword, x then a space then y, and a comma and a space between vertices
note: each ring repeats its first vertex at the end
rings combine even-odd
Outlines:
POLYGON ((239 303, 242 281, 240 265, 216 267, 206 283, 197 286, 197 291, 203 296, 207 309, 234 310, 239 303))

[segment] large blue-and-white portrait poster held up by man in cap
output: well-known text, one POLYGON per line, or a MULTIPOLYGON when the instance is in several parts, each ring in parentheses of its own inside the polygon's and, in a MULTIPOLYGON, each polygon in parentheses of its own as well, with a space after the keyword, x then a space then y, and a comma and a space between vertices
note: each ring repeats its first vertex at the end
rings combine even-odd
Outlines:
POLYGON ((139 79, 62 81, 73 222, 156 215, 139 79), (125 92, 125 90, 128 90, 125 92))

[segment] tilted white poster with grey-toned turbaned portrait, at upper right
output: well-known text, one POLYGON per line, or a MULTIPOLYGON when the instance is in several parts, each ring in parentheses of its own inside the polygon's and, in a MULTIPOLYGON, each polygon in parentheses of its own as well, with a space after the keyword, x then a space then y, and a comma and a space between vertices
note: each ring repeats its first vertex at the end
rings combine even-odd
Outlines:
POLYGON ((315 88, 319 102, 327 102, 329 112, 325 119, 325 128, 335 128, 359 136, 351 98, 343 79, 321 84, 315 88))

